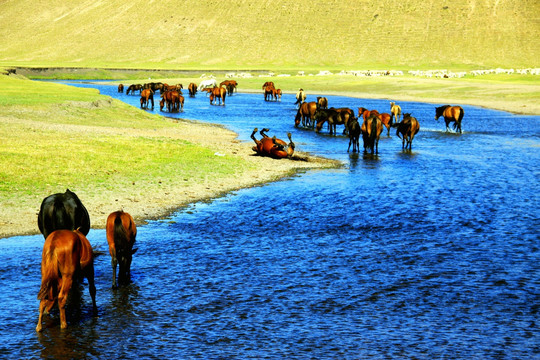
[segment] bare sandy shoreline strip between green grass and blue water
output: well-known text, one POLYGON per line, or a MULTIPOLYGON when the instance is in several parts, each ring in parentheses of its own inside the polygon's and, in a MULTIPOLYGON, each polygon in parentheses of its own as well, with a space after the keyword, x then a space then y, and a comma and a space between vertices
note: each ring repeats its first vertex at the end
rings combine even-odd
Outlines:
MULTIPOLYGON (((178 133, 182 134, 183 140, 207 147, 214 151, 216 156, 241 157, 253 165, 254 170, 246 170, 211 184, 206 181, 184 184, 185 179, 183 181, 175 179, 176 182, 172 184, 160 180, 156 184, 143 188, 137 184, 137 194, 131 193, 131 189, 122 189, 114 193, 104 191, 97 194, 86 194, 80 189, 70 189, 79 196, 87 208, 91 229, 104 229, 107 216, 120 209, 130 213, 137 226, 142 226, 148 221, 166 219, 190 204, 211 201, 237 190, 280 181, 302 171, 342 166, 342 163, 337 160, 317 157, 301 151, 295 152, 291 159, 276 160, 261 157, 252 150, 253 144, 238 140, 238 134, 219 124, 167 117, 164 119, 178 123, 178 133)), ((57 192, 64 191, 65 189, 58 189, 57 192)), ((17 214, 6 214, 5 210, 0 209, 0 239, 39 235, 37 214, 42 200, 33 204, 32 208, 19 209, 17 214)))

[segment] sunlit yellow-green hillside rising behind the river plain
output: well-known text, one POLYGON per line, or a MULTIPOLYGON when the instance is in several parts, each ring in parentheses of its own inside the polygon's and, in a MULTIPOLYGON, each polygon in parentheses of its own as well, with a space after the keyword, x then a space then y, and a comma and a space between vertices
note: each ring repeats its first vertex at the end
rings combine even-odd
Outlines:
POLYGON ((538 0, 1 0, 0 64, 535 67, 538 0))

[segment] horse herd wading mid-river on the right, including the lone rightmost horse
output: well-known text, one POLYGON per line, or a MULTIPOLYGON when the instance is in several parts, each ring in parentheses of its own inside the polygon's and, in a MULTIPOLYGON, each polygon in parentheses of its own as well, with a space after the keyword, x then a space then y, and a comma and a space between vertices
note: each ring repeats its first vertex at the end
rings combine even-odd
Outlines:
MULTIPOLYGON (((295 127, 302 125, 304 128, 315 129, 315 132, 319 133, 326 122, 330 135, 337 135, 337 125, 344 125, 343 134, 349 136, 347 152, 350 151, 351 145, 353 152, 359 151, 359 138, 362 135, 364 152, 370 150, 371 154, 378 153, 383 126, 386 127, 388 136, 390 136, 390 128, 396 128, 396 135, 402 139, 402 149, 411 150, 414 136, 420 130, 418 120, 410 113, 403 113, 401 119, 401 107, 394 102, 390 102, 388 113, 359 107, 358 114, 355 116, 354 110, 347 107, 328 108, 326 97, 317 97, 317 101, 307 102, 305 91, 300 89, 296 94, 295 104, 298 104, 298 111, 294 118, 295 127), (359 119, 362 119, 361 124, 359 119)), ((461 133, 463 115, 461 106, 444 105, 435 108, 435 119, 438 120, 442 116, 447 131, 449 124, 453 122, 454 130, 461 133)))

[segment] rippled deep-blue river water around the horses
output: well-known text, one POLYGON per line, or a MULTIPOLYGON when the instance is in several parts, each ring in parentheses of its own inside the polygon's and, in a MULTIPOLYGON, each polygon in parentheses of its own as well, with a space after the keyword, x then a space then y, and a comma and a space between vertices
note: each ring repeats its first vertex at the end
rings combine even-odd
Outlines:
MULTIPOLYGON (((371 157, 348 154, 345 137, 295 129, 293 102, 240 93, 219 107, 186 95, 175 116, 246 141, 254 127, 290 131, 298 150, 345 166, 140 227, 132 285, 112 290, 110 257, 96 259, 98 318, 84 287, 70 327, 56 312, 37 334, 43 239, 0 239, 0 357, 540 358, 540 117, 464 106, 456 135, 434 120, 439 104, 401 102, 420 121, 413 151, 392 132, 371 157)), ((88 237, 107 249, 104 231, 88 237)))

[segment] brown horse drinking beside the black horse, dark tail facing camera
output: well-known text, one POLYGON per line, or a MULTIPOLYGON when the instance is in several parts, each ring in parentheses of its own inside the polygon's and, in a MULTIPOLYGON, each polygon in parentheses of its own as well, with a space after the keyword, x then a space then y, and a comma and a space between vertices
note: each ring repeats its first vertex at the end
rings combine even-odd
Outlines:
POLYGON ((107 243, 111 254, 113 270, 113 288, 116 283, 116 265, 120 265, 118 271, 118 284, 124 285, 131 282, 131 261, 137 249, 133 249, 137 227, 133 217, 124 211, 115 211, 107 217, 106 225, 107 243))

